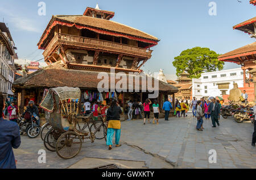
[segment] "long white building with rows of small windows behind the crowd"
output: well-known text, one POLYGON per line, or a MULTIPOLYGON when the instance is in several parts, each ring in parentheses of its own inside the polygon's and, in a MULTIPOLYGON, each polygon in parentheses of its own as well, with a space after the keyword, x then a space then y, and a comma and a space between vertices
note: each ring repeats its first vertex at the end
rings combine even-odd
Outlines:
MULTIPOLYGON (((246 74, 246 77, 249 77, 249 74, 246 74)), ((192 79, 192 96, 197 99, 217 97, 222 95, 221 90, 229 94, 229 91, 234 87, 234 82, 238 84, 238 87, 243 87, 243 70, 241 68, 202 73, 200 78, 192 79), (229 87, 218 89, 218 85, 222 83, 229 83, 229 87)))

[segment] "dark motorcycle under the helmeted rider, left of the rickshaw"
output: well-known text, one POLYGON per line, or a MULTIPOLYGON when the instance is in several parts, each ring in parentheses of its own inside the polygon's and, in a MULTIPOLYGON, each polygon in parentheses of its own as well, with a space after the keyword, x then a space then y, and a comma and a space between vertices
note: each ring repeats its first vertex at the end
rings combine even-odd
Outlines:
POLYGON ((19 132, 20 135, 23 133, 27 133, 27 136, 30 138, 38 137, 40 134, 41 128, 36 124, 36 120, 39 120, 39 116, 35 113, 31 114, 30 112, 26 112, 29 114, 30 118, 25 119, 22 116, 18 118, 19 132))

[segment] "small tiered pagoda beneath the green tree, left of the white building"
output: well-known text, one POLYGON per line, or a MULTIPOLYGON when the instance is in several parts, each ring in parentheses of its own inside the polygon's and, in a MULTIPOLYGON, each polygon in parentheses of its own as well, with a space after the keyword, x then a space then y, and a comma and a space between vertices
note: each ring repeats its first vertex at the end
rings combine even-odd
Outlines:
POLYGON ((192 79, 188 77, 189 74, 185 71, 180 74, 180 77, 177 78, 177 82, 174 86, 179 89, 175 94, 175 97, 178 99, 192 99, 192 79))

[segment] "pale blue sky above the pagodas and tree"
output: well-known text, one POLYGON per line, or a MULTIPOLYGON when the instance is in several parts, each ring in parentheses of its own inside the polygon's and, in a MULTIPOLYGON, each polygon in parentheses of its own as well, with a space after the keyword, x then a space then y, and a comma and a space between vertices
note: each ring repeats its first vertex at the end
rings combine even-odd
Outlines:
MULTIPOLYGON (((4 18, 18 48, 19 58, 43 58, 37 43, 52 15, 82 14, 87 6, 114 11, 112 19, 160 39, 152 58, 143 67, 145 72, 175 74, 174 57, 181 51, 196 46, 208 47, 217 53, 226 53, 255 40, 249 35, 233 30, 233 26, 256 16, 256 7, 249 0, 215 0, 217 16, 210 16, 212 0, 44 0, 46 16, 38 15, 37 0, 1 0, 0 21, 4 18)), ((225 69, 239 66, 226 63, 225 69)))

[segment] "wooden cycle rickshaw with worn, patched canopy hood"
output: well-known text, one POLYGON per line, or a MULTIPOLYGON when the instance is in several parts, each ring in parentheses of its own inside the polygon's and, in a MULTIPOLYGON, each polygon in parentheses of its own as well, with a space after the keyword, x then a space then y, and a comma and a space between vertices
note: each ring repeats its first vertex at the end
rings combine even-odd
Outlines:
POLYGON ((44 136, 44 146, 64 159, 75 157, 85 139, 92 143, 95 139, 106 140, 104 115, 79 115, 80 94, 77 87, 51 88, 46 90, 40 103, 51 126, 44 136))

